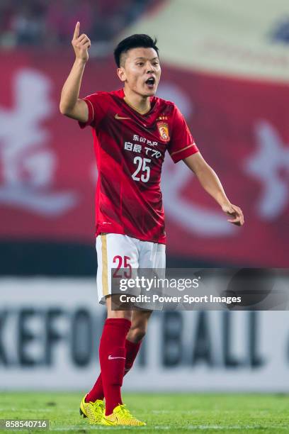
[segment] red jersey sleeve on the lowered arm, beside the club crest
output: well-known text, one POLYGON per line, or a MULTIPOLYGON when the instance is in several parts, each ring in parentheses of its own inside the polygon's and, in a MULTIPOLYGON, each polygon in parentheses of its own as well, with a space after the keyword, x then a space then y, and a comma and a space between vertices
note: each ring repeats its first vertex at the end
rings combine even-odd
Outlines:
POLYGON ((171 140, 168 145, 169 155, 174 163, 198 152, 197 145, 193 140, 181 111, 174 106, 171 140))

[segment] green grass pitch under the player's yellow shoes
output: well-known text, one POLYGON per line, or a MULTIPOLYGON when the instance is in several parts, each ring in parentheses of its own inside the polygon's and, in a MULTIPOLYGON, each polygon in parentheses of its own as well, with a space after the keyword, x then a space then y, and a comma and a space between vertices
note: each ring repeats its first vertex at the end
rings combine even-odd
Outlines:
MULTIPOLYGON (((76 393, 3 392, 0 394, 0 418, 46 418, 50 420, 50 431, 59 433, 289 433, 287 395, 124 394, 123 397, 132 413, 147 426, 106 428, 89 425, 79 416, 81 394, 76 393)), ((4 430, 0 432, 4 433, 4 430)))

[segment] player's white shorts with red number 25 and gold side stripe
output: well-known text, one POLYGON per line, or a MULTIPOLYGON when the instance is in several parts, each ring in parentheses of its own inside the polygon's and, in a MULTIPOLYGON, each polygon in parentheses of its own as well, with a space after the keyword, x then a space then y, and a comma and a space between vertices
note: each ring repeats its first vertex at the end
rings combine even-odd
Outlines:
POLYGON ((166 246, 137 240, 118 233, 101 234, 96 237, 98 269, 96 284, 98 301, 105 304, 111 294, 111 269, 166 267, 166 246))

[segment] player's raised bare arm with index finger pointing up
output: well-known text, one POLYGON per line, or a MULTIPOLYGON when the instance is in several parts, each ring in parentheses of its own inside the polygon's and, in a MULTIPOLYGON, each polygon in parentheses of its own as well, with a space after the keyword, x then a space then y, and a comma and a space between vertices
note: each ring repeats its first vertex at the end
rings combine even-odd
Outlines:
POLYGON ((86 122, 89 118, 89 110, 86 103, 79 99, 79 90, 81 86, 84 67, 89 60, 89 47, 91 41, 82 33, 79 36, 79 21, 74 29, 72 38, 72 47, 75 52, 75 61, 72 70, 64 83, 60 98, 60 113, 77 121, 86 122))

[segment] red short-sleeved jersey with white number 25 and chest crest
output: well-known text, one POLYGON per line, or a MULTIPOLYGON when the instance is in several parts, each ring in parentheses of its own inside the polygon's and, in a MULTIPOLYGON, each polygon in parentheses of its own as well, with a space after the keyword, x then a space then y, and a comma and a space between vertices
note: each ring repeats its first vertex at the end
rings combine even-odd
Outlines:
POLYGON ((198 152, 176 105, 152 96, 140 114, 124 100, 123 89, 84 98, 98 167, 96 235, 120 233, 165 243, 160 179, 164 154, 174 162, 198 152))

